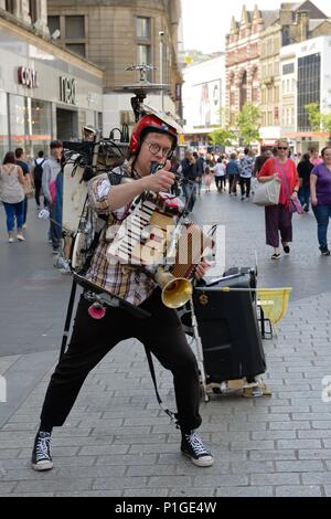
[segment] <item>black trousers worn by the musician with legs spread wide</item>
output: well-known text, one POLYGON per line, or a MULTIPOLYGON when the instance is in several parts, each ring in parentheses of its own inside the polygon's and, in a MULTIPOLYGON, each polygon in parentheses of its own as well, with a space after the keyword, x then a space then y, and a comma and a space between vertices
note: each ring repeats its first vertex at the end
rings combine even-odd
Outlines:
POLYGON ((147 319, 137 319, 121 309, 108 308, 104 319, 95 320, 87 311, 90 303, 82 296, 71 343, 46 392, 41 414, 42 426, 63 425, 90 370, 118 342, 129 338, 137 338, 150 349, 163 368, 172 372, 180 427, 191 431, 201 425, 196 359, 177 313, 162 304, 160 294, 160 289, 156 289, 142 303, 141 308, 152 315, 147 319))

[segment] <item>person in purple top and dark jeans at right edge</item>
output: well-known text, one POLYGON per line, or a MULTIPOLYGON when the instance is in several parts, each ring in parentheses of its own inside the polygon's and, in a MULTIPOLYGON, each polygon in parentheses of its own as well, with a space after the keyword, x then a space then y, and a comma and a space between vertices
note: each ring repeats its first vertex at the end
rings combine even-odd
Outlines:
POLYGON ((311 205, 318 223, 318 240, 322 256, 330 256, 328 227, 331 218, 331 147, 322 150, 322 163, 310 174, 311 205))

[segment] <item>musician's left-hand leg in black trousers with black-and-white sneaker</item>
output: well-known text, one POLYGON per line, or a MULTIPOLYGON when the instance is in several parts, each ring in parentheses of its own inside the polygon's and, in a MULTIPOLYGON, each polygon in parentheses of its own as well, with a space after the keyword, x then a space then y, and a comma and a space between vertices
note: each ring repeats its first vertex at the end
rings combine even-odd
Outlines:
POLYGON ((128 338, 127 317, 117 309, 107 309, 106 317, 95 320, 88 315, 90 303, 81 298, 72 340, 52 375, 45 395, 41 425, 32 452, 35 470, 53 468, 51 433, 61 426, 71 412, 87 374, 120 340, 128 338))

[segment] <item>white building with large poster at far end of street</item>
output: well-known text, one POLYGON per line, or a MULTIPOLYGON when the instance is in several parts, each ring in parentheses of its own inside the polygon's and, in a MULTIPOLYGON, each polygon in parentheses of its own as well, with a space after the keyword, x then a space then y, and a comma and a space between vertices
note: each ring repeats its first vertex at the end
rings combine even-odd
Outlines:
POLYGON ((183 70, 184 135, 189 146, 209 146, 209 134, 222 126, 225 107, 225 55, 183 70))

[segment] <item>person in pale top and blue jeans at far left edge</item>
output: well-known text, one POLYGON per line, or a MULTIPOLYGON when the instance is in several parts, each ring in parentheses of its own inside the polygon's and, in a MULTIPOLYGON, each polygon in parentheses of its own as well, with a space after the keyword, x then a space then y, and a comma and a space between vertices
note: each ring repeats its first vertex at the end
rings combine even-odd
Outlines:
POLYGON ((12 151, 6 153, 0 167, 0 200, 3 203, 7 215, 8 241, 13 243, 15 224, 18 227, 17 239, 24 242, 23 215, 24 215, 24 176, 22 168, 17 165, 12 151))

